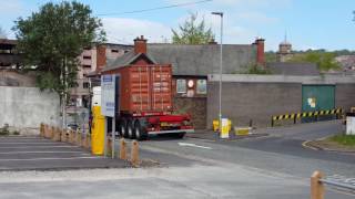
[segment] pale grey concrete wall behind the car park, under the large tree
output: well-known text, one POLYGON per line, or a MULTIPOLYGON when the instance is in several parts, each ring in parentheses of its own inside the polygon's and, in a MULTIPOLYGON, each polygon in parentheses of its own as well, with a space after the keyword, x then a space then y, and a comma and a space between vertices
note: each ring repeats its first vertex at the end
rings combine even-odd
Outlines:
POLYGON ((39 133, 40 123, 60 124, 60 102, 54 93, 0 86, 0 127, 9 124, 21 133, 39 133))

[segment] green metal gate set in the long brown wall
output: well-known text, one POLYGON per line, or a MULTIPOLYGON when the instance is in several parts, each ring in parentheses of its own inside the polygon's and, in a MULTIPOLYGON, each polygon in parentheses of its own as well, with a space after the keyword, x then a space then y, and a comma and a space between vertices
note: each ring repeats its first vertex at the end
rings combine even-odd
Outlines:
MULTIPOLYGON (((335 106, 335 85, 302 85, 302 112, 333 109, 335 106)), ((314 119, 331 119, 329 116, 314 119)), ((306 119, 304 122, 311 122, 306 119)))

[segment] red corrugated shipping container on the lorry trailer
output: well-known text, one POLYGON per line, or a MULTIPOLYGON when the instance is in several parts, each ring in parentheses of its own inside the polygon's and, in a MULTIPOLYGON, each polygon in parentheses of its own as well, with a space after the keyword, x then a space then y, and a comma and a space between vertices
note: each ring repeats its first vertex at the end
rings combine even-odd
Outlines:
POLYGON ((172 111, 170 64, 128 65, 108 72, 120 74, 120 111, 126 114, 172 111))

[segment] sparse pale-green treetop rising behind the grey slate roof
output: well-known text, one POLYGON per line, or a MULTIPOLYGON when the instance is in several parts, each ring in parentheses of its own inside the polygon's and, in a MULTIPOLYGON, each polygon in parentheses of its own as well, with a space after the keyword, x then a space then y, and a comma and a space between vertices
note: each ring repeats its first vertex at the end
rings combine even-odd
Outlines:
POLYGON ((180 31, 172 29, 172 41, 176 44, 207 44, 214 39, 211 28, 205 27, 204 19, 199 23, 197 14, 190 14, 190 18, 181 25, 180 31))

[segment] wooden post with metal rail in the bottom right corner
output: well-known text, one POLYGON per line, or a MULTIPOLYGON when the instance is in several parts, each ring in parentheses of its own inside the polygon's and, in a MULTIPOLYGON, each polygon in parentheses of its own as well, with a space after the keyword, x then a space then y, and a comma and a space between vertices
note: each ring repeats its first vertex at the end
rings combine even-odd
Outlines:
POLYGON ((355 179, 344 179, 339 176, 324 177, 321 171, 314 171, 311 176, 311 199, 324 199, 325 186, 355 191, 355 179))

